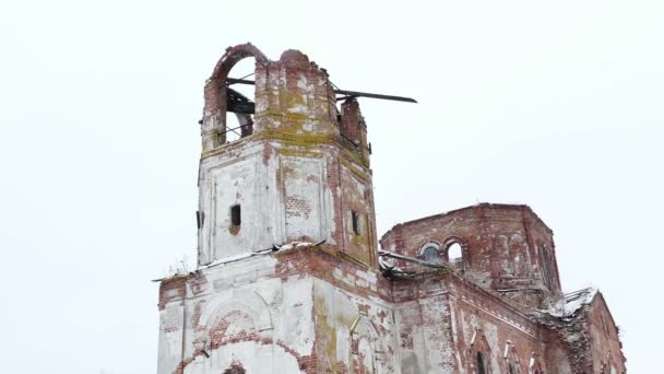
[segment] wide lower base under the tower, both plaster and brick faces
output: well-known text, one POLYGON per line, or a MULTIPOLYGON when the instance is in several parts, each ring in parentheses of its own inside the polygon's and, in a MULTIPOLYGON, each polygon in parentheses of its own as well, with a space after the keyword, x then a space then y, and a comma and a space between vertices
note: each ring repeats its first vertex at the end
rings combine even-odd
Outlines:
POLYGON ((164 281, 158 373, 223 372, 229 357, 252 373, 399 373, 389 282, 339 256, 295 248, 164 281))

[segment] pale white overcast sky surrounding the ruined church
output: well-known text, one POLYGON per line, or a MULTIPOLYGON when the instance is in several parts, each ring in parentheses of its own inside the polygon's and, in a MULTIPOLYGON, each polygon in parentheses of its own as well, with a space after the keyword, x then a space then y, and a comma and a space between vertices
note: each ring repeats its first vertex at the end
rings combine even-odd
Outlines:
POLYGON ((379 235, 527 203, 564 289, 598 287, 652 372, 663 20, 660 1, 1 2, 0 372, 155 372, 150 280, 194 257, 203 83, 248 40, 419 101, 361 101, 379 235))

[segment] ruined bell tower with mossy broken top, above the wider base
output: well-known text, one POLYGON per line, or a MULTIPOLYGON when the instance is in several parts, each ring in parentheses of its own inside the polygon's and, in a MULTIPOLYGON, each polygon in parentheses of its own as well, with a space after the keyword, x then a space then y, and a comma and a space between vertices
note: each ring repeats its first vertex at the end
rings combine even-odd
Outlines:
POLYGON ((199 266, 292 242, 319 243, 376 266, 369 145, 353 96, 340 107, 324 69, 297 51, 269 60, 226 50, 205 84, 199 170, 199 266), (230 79, 256 60, 254 81, 230 79), (254 101, 234 90, 253 84, 254 101), (230 141, 228 116, 239 122, 230 141))

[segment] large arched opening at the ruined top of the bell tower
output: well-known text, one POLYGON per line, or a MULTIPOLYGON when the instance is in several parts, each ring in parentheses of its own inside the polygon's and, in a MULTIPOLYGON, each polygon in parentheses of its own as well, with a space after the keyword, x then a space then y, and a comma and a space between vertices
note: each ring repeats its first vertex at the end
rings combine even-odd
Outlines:
MULTIPOLYGON (((239 60, 228 77, 251 80, 254 71, 256 59, 249 57, 239 60)), ((226 91, 226 142, 250 136, 253 132, 256 112, 254 86, 227 81, 222 90, 226 91)))

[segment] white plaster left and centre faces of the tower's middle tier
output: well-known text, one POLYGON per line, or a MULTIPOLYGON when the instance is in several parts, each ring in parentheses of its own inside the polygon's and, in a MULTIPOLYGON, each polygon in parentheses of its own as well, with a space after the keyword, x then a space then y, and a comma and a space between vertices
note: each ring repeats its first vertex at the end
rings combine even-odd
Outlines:
POLYGON ((303 238, 333 244, 324 152, 286 155, 283 148, 278 141, 251 142, 201 161, 199 211, 205 218, 199 264, 303 238), (238 203, 241 225, 236 232, 230 230, 230 207, 238 203))

